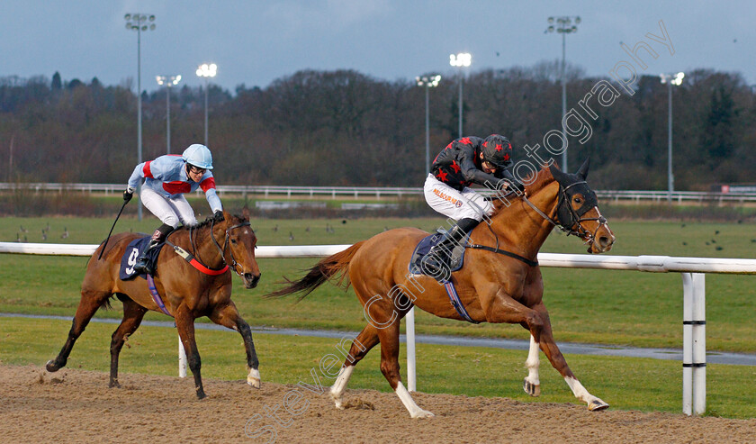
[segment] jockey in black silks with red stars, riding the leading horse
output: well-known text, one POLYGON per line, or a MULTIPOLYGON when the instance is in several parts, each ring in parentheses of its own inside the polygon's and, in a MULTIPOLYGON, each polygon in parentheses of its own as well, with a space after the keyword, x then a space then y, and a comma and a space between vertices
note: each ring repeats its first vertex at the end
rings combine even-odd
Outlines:
POLYGON ((426 179, 423 192, 426 202, 438 213, 454 219, 455 226, 446 231, 445 238, 428 252, 423 266, 431 276, 446 263, 446 251, 473 231, 483 215, 491 214, 493 205, 469 186, 473 184, 491 189, 524 186, 507 170, 512 165, 512 144, 500 134, 485 139, 463 137, 446 146, 436 156, 426 179))

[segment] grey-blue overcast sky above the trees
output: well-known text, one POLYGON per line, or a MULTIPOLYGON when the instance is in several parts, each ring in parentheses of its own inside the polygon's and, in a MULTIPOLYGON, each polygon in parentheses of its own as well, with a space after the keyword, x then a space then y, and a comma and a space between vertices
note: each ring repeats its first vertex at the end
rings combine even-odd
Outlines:
MULTIPOLYGON (((119 85, 137 77, 137 32, 124 14, 155 14, 141 34, 142 88, 158 74, 197 86, 202 62, 218 65, 212 81, 266 87, 300 69, 348 68, 376 78, 410 79, 452 72, 449 54, 473 54, 471 69, 532 66, 561 59, 562 37, 545 33, 550 15, 579 15, 567 36, 567 59, 589 75, 608 75, 646 41, 656 75, 690 68, 739 72, 756 84, 756 2, 592 0, 2 0, 0 77, 93 77, 119 85), (669 33, 675 54, 645 35, 669 33)), ((643 53, 645 54, 645 53, 643 53)))

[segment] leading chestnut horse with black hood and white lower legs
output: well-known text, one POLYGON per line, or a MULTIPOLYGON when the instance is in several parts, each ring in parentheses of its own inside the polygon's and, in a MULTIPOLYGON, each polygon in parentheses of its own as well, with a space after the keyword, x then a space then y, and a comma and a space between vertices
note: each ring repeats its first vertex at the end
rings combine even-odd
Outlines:
MULTIPOLYGON (((608 408, 590 394, 567 366, 554 342, 549 315, 542 300, 544 282, 536 262, 538 250, 555 226, 589 245, 590 253, 611 249, 615 240, 607 220, 599 213, 596 194, 586 184, 590 162, 576 174, 551 166, 526 180, 525 194, 495 199, 490 219, 472 231, 464 267, 452 274, 459 300, 471 322, 518 323, 530 331, 530 349, 523 388, 532 396, 541 393, 538 377, 539 348, 563 376, 572 393, 588 404, 591 411, 608 408), (501 253, 501 254, 496 254, 501 253)), ((399 334, 401 318, 412 306, 442 318, 464 321, 446 294, 445 287, 432 277, 409 272, 410 256, 425 231, 399 228, 383 231, 369 240, 357 242, 344 251, 320 260, 306 276, 271 294, 280 297, 301 293, 300 299, 331 277, 348 272, 368 325, 353 341, 330 396, 337 408, 344 408, 343 395, 356 363, 379 342, 381 371, 412 418, 431 417, 421 409, 401 383, 399 334)), ((340 281, 339 281, 340 284, 340 281)), ((464 310, 463 310, 464 312, 464 310)))

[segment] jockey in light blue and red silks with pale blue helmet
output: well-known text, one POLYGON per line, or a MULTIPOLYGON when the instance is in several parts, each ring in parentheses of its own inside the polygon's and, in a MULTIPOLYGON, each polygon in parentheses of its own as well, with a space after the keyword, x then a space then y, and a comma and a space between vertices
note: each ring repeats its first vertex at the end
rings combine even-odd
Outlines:
POLYGON ((198 143, 190 145, 181 156, 160 156, 134 168, 129 177, 129 185, 123 192, 123 200, 128 202, 139 186, 139 181, 144 179, 141 188, 142 204, 163 222, 152 234, 148 247, 142 252, 134 269, 152 274, 154 270, 149 269, 147 262, 148 250, 165 240, 178 227, 179 222, 186 226, 197 224, 192 206, 186 201, 184 193, 202 188, 216 220, 223 219, 223 206, 215 193, 215 179, 211 169, 211 152, 198 143))

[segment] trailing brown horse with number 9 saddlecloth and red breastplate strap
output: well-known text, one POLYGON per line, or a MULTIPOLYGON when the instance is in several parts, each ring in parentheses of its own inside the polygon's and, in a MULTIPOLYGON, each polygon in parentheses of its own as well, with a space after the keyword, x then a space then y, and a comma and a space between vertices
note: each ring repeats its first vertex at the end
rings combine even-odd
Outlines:
MULTIPOLYGON (((166 244, 157 258, 154 284, 157 294, 162 298, 166 314, 175 318, 178 336, 186 350, 189 368, 194 376, 197 397, 205 397, 200 376, 200 354, 194 340, 194 320, 207 316, 229 329, 238 331, 244 339, 247 350, 247 384, 260 387, 260 372, 257 367, 257 352, 252 341, 249 325, 238 313, 231 301, 231 271, 241 276, 246 288, 254 288, 260 279, 260 269, 255 258, 257 236, 249 225, 249 213, 245 208, 241 217, 223 212, 224 220, 216 222, 208 218, 193 227, 181 227, 171 232, 167 240, 184 252, 191 252, 195 264, 176 254, 166 244), (222 247, 221 247, 222 245, 222 247), (228 266, 227 266, 228 264, 228 266), (205 267, 205 272, 199 268, 205 267), (225 271, 221 270, 225 267, 225 271), (208 269, 209 268, 209 269, 208 269), (211 274, 208 274, 211 273, 211 274)), ((68 355, 76 339, 84 332, 87 323, 102 306, 110 305, 114 295, 123 303, 123 320, 111 340, 110 387, 120 387, 118 383, 118 356, 123 343, 139 328, 148 311, 165 313, 161 310, 160 299, 153 299, 148 289, 148 281, 137 276, 130 280, 121 280, 119 268, 121 256, 131 240, 143 235, 137 233, 119 233, 112 236, 103 252, 102 260, 97 257, 103 244, 95 249, 89 259, 81 285, 81 301, 76 309, 71 330, 66 344, 58 357, 50 360, 46 368, 56 372, 66 366, 68 355)))

